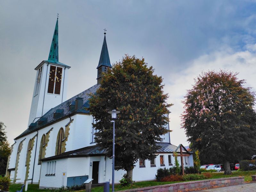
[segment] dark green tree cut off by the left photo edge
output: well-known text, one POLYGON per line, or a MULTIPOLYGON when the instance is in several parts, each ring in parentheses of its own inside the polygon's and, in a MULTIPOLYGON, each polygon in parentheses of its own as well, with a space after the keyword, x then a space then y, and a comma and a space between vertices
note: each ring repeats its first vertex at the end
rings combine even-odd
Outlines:
POLYGON ((11 151, 4 129, 4 123, 0 121, 0 175, 5 174, 8 155, 11 151))

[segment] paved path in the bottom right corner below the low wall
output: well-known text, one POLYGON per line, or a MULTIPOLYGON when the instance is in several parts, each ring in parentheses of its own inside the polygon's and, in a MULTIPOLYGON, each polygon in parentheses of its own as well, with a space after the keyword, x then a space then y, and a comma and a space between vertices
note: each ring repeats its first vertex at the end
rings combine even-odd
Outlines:
POLYGON ((203 192, 254 192, 256 191, 256 183, 248 183, 242 185, 234 185, 228 187, 212 188, 202 190, 203 192))

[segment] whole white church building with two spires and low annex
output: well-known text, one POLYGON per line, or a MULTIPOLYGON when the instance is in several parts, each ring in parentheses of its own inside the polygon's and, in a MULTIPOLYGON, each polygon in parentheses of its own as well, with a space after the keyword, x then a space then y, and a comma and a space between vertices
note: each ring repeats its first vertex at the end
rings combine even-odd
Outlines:
MULTIPOLYGON (((112 159, 96 146, 92 127, 94 117, 86 110, 88 94, 96 92, 102 74, 109 68, 111 63, 104 35, 95 70, 97 84, 67 100, 70 66, 59 62, 57 19, 48 60, 35 68, 37 74, 28 128, 14 139, 8 157, 6 176, 13 183, 23 184, 28 180, 39 184, 39 188, 59 188, 81 185, 88 178, 94 179, 93 184, 112 182, 112 159)), ((169 130, 169 124, 166 129, 169 130)), ((169 133, 162 135, 162 139, 157 143, 160 149, 153 161, 138 160, 133 180, 154 180, 158 168, 174 166, 173 152, 177 146, 170 143, 169 133)), ((194 166, 192 154, 185 148, 183 154, 187 154, 182 157, 184 166, 194 166)), ((178 160, 180 164, 180 157, 178 160)), ((124 170, 116 170, 114 182, 118 183, 124 173, 124 170)))

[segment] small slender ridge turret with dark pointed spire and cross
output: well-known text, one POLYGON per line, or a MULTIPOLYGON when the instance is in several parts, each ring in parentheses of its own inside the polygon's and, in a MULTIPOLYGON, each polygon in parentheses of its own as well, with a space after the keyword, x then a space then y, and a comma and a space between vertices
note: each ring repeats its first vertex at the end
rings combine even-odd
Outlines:
POLYGON ((97 84, 101 83, 103 74, 107 73, 109 68, 112 68, 112 66, 111 66, 109 54, 108 54, 108 46, 107 46, 107 42, 106 42, 106 30, 105 30, 100 60, 99 60, 99 64, 97 67, 97 84))

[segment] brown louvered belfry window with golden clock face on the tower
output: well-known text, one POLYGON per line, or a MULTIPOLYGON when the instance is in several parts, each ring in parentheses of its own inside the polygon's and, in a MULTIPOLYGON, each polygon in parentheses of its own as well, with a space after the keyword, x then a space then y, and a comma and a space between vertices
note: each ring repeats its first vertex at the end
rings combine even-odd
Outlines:
POLYGON ((62 68, 50 66, 48 93, 59 95, 61 93, 62 68))

